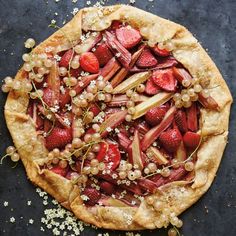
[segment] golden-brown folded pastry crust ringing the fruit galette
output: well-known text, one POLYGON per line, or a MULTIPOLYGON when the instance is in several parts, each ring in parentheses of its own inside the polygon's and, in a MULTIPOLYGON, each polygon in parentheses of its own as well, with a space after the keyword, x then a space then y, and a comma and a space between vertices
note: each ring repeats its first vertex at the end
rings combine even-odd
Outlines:
MULTIPOLYGON (((169 208, 179 215, 208 190, 216 175, 227 143, 232 103, 230 91, 214 62, 185 27, 131 6, 84 8, 68 24, 33 51, 43 52, 50 45, 61 46, 64 50, 68 49, 71 43, 73 45, 78 43, 82 30, 102 31, 108 28, 113 20, 128 22, 139 29, 142 36, 150 43, 170 41, 174 46, 172 51, 174 57, 188 69, 193 77, 211 77, 211 96, 219 104, 219 110, 202 108, 200 111, 203 143, 197 151, 195 179, 191 183, 178 181, 164 185, 154 194, 162 201, 164 208, 169 208), (64 36, 65 34, 67 37, 64 36)), ((15 80, 25 79, 25 72, 22 69, 19 70, 15 80)), ((146 200, 142 201, 139 207, 96 205, 87 208, 80 197, 78 186, 49 170, 41 170, 39 165, 46 161, 48 151, 43 140, 37 136, 32 119, 26 114, 28 103, 27 93, 19 94, 19 92, 11 91, 5 104, 5 117, 30 181, 51 194, 76 217, 97 227, 140 230, 165 226, 160 225, 159 221, 163 212, 153 211, 146 200), (34 144, 33 151, 29 152, 24 147, 32 137, 37 138, 37 143, 34 144)))

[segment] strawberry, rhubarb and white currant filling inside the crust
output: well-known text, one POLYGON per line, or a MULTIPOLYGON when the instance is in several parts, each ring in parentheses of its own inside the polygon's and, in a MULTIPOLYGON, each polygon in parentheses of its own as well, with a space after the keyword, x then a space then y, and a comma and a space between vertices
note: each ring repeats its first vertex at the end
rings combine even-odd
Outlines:
POLYGON ((150 47, 119 21, 59 49, 23 55, 28 114, 49 150, 42 169, 78 184, 88 207, 137 207, 194 178, 199 110, 218 108, 209 79, 193 78, 171 43, 150 47))

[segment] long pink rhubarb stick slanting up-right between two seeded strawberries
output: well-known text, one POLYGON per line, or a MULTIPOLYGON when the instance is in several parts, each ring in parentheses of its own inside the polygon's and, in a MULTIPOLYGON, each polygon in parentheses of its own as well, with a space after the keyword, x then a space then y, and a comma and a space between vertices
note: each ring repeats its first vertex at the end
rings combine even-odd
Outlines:
POLYGON ((150 131, 148 131, 144 135, 143 140, 141 142, 141 147, 143 151, 147 150, 147 148, 151 146, 151 144, 159 137, 159 135, 171 125, 174 119, 175 111, 176 108, 171 107, 165 114, 165 117, 163 118, 162 122, 159 125, 150 129, 150 131))

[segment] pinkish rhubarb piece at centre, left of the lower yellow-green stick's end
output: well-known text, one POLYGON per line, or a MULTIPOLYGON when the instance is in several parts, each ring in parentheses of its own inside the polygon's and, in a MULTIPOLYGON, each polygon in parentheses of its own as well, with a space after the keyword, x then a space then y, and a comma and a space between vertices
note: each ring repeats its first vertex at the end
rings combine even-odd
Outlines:
POLYGON ((126 110, 110 115, 109 118, 106 119, 100 127, 101 137, 105 137, 108 134, 107 128, 114 129, 119 124, 121 124, 125 120, 126 115, 126 110))

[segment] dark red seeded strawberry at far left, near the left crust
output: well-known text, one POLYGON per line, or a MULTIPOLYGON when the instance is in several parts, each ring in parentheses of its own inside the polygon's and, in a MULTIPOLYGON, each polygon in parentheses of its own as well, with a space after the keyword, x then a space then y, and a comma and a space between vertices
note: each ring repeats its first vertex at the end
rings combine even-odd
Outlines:
POLYGON ((72 141, 72 130, 55 127, 45 138, 45 146, 48 150, 63 148, 72 141))

